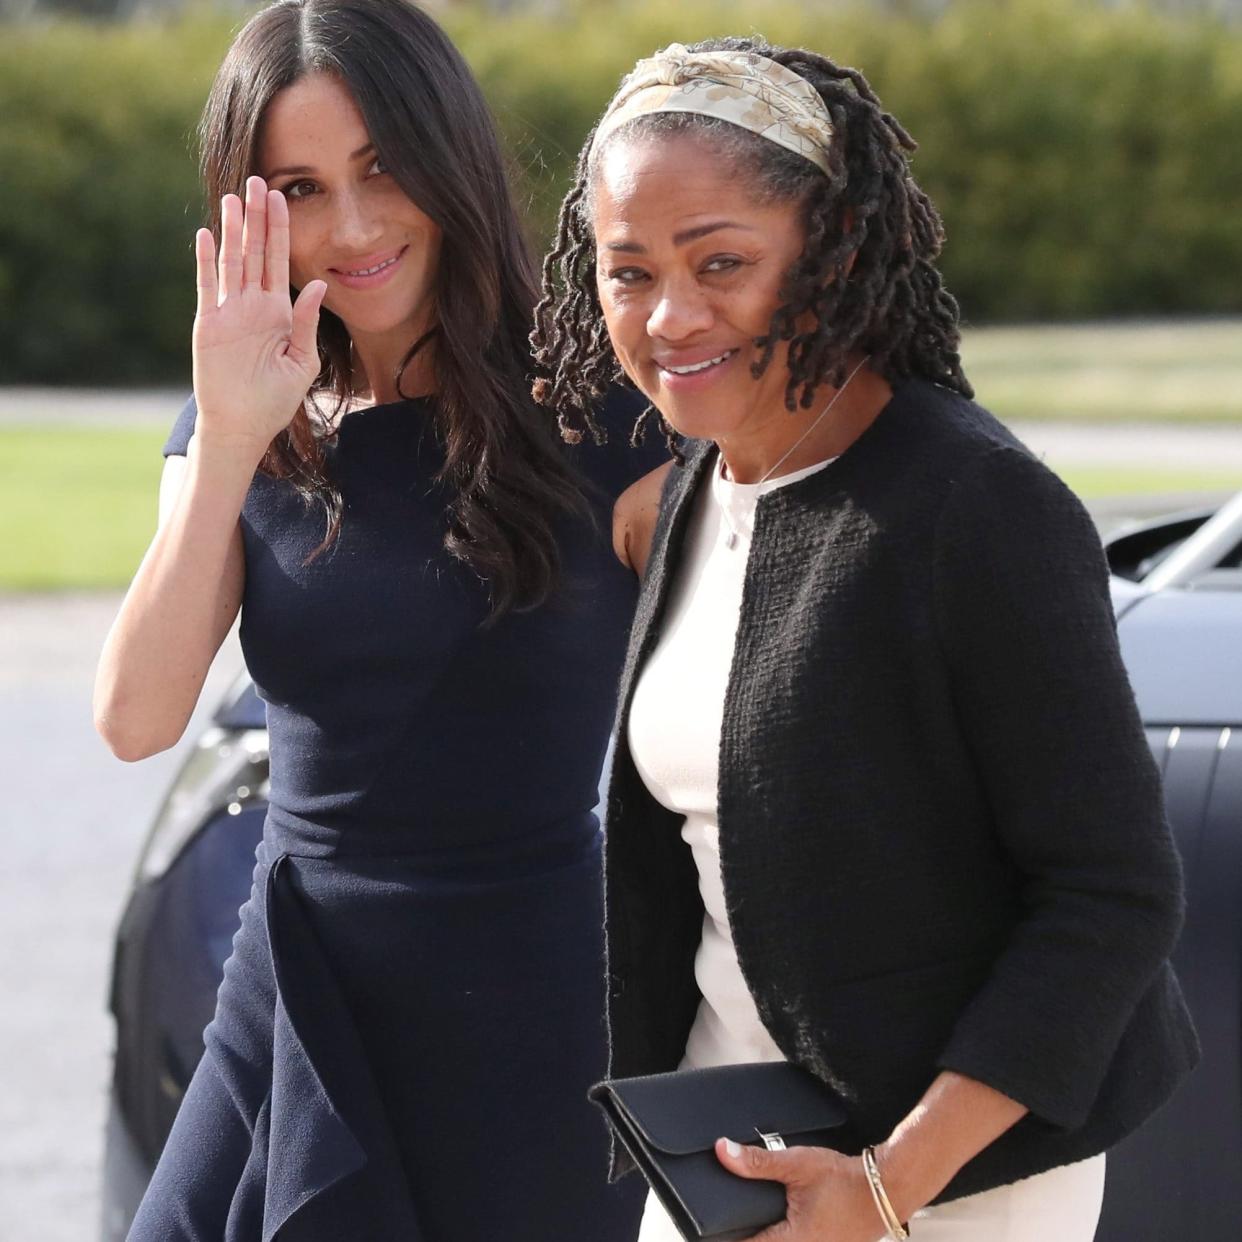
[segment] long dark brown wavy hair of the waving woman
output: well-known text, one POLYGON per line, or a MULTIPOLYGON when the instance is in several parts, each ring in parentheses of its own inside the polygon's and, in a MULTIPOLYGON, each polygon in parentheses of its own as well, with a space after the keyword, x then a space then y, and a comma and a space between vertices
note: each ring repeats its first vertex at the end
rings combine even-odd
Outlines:
MULTIPOLYGON (((482 92, 445 32, 406 0, 279 0, 252 17, 220 67, 201 123, 211 227, 220 199, 257 171, 267 106, 309 73, 340 78, 396 184, 441 229, 433 340, 436 430, 448 486, 446 549, 491 589, 492 615, 533 607, 553 589, 558 513, 582 497, 555 428, 529 397, 529 329, 537 273, 518 222, 504 156, 482 92)), ((312 396, 353 386, 349 333, 319 317, 322 370, 312 396)), ((308 404, 272 442, 262 467, 323 504, 335 539, 342 498, 308 404)))

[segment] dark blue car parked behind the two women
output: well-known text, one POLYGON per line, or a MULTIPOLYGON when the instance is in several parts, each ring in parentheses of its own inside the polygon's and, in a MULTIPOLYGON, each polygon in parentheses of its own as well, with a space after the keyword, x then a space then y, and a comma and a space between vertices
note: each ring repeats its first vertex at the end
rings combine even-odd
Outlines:
MULTIPOLYGON (((1201 1242, 1242 1221, 1242 494, 1108 542, 1122 651, 1186 868, 1176 955, 1203 1045, 1174 1102, 1109 1158, 1097 1242, 1201 1242)), ((117 932, 103 1238, 124 1237, 202 1053, 267 809, 247 679, 143 847, 117 932)), ((585 1107, 585 1105, 584 1105, 585 1107)), ((1049 1240, 1054 1242, 1054 1240, 1049 1240)))

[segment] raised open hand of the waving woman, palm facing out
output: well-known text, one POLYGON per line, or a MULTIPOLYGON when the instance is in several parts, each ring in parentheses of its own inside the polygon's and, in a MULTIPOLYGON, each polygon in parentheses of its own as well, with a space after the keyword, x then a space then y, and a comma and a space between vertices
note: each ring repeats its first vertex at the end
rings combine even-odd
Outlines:
POLYGON ((247 180, 245 209, 225 195, 220 233, 219 262, 207 229, 194 246, 196 435, 257 461, 319 373, 315 328, 328 286, 308 281, 289 303, 289 207, 262 178, 247 180))

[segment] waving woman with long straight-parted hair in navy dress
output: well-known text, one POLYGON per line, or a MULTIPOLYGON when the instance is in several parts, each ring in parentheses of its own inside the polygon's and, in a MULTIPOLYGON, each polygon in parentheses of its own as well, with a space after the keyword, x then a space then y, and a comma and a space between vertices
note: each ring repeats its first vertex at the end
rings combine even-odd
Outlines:
POLYGON ((632 1242, 584 1102, 592 809, 637 591, 609 515, 667 455, 568 450, 530 400, 493 124, 412 5, 263 10, 202 138, 196 405, 96 715, 171 745, 240 609, 271 795, 130 1236, 632 1242))

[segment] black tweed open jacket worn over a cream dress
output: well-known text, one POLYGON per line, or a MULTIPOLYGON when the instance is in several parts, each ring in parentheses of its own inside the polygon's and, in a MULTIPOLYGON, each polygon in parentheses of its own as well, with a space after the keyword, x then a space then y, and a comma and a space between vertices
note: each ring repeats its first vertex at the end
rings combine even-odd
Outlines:
MULTIPOLYGON (((699 1000, 694 866, 626 725, 712 456, 666 488, 621 687, 615 1077, 676 1068, 699 1000)), ((741 971, 785 1056, 846 1102, 845 1150, 940 1068, 989 1083, 1031 1113, 954 1199, 1104 1150, 1195 1064, 1169 966, 1181 871, 1098 537, 956 394, 899 385, 838 461, 760 501, 719 823, 741 971)))

